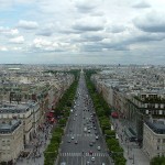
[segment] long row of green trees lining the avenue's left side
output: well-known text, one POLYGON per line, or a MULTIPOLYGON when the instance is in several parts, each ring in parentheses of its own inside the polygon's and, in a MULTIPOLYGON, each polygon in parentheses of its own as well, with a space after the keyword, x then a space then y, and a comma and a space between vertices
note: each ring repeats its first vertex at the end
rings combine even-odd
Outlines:
POLYGON ((62 136, 64 135, 64 130, 76 95, 79 75, 78 73, 78 70, 74 72, 75 81, 65 91, 62 99, 56 106, 55 116, 59 117, 59 120, 57 121, 55 129, 53 129, 51 142, 44 152, 44 165, 54 165, 55 160, 57 158, 62 136))

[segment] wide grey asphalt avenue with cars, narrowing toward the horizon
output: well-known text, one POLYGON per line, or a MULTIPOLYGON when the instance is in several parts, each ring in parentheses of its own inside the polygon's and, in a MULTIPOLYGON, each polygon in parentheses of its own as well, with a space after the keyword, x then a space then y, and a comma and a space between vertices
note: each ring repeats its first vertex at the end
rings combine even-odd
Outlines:
POLYGON ((110 165, 82 73, 76 96, 77 99, 63 138, 58 165, 63 163, 66 163, 65 165, 110 165), (92 146, 89 145, 90 143, 92 146))

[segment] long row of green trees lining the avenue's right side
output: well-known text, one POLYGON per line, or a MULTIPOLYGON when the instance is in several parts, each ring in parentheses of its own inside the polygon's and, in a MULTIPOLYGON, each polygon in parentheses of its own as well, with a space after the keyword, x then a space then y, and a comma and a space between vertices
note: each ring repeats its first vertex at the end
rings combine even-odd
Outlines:
POLYGON ((91 81, 91 75, 95 70, 85 70, 86 82, 94 102, 94 107, 99 119, 99 124, 105 135, 109 154, 114 161, 116 165, 125 165, 127 160, 123 156, 123 148, 120 146, 119 141, 116 139, 116 132, 111 130, 110 114, 111 109, 105 101, 103 97, 97 92, 95 85, 91 81))

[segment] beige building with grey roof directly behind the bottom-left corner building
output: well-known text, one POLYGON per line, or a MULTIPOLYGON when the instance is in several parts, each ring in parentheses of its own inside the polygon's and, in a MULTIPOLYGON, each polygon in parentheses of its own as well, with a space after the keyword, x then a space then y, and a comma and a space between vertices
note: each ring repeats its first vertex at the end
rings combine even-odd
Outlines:
POLYGON ((0 121, 10 122, 12 119, 20 119, 23 123, 23 142, 29 144, 33 133, 41 123, 41 111, 38 102, 24 102, 14 105, 6 102, 0 106, 0 121))

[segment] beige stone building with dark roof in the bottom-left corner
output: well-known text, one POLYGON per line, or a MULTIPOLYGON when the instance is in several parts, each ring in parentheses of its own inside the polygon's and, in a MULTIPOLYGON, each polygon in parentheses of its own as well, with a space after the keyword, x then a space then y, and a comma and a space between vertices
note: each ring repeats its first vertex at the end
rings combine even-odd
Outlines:
POLYGON ((21 120, 0 123, 0 162, 14 162, 23 150, 21 120))

